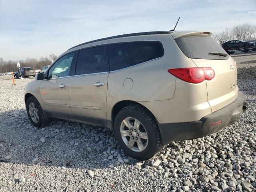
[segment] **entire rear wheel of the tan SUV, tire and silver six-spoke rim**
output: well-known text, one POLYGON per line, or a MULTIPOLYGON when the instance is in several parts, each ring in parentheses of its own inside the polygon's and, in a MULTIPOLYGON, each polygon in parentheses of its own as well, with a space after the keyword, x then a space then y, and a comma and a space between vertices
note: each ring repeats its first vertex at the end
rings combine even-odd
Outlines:
POLYGON ((152 158, 163 146, 155 118, 139 105, 120 110, 115 118, 114 132, 124 152, 138 160, 152 158))

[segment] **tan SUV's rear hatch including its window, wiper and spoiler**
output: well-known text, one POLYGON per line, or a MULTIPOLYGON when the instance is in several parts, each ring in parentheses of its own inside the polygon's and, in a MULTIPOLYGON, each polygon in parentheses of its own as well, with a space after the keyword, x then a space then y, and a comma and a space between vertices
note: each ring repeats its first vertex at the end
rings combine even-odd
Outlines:
POLYGON ((174 34, 174 40, 184 55, 191 58, 197 67, 211 67, 215 72, 212 80, 206 80, 208 103, 212 112, 236 100, 236 63, 211 37, 211 33, 174 34))

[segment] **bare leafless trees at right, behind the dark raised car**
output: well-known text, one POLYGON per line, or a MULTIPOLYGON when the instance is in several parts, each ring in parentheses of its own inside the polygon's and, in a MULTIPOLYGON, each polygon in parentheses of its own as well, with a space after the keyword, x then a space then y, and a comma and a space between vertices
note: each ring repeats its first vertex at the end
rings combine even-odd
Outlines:
POLYGON ((232 28, 226 28, 225 31, 219 33, 213 33, 212 38, 220 43, 230 40, 242 40, 250 41, 256 39, 256 25, 251 25, 249 23, 244 23, 236 25, 232 28))

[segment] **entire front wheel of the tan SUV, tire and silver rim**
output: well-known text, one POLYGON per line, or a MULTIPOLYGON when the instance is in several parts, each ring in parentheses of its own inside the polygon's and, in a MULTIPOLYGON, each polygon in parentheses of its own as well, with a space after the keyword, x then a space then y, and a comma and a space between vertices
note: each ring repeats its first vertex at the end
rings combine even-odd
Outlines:
POLYGON ((48 119, 45 118, 42 107, 34 96, 28 98, 26 102, 26 110, 28 118, 34 126, 43 127, 48 123, 48 119))

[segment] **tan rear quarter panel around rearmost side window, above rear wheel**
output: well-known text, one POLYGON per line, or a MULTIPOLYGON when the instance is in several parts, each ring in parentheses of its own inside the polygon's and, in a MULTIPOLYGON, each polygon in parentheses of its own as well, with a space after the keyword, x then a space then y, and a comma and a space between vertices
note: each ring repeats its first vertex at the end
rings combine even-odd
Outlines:
MULTIPOLYGON (((171 75, 168 69, 196 66, 190 58, 184 57, 170 34, 135 36, 126 38, 125 41, 142 40, 160 41, 164 47, 164 56, 110 72, 107 94, 108 120, 111 120, 113 106, 122 100, 150 102, 172 99, 175 93, 176 77, 171 75), (124 81, 128 78, 132 80, 133 84, 130 90, 124 89, 124 81)), ((154 111, 151 112, 154 114, 154 111)))

